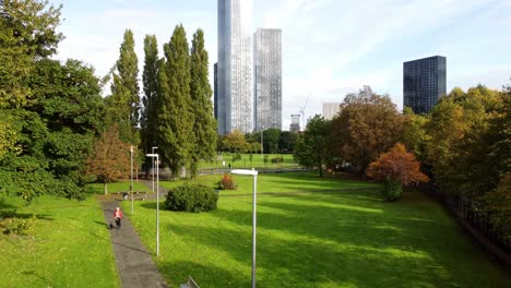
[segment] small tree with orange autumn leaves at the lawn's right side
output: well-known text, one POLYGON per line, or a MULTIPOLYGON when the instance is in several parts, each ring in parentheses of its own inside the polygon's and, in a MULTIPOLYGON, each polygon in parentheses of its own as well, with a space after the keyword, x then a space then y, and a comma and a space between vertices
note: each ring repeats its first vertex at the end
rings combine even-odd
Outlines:
POLYGON ((428 177, 420 172, 420 165, 402 143, 396 143, 388 153, 382 153, 369 166, 367 176, 385 183, 385 197, 395 201, 401 197, 403 185, 427 182, 428 177))

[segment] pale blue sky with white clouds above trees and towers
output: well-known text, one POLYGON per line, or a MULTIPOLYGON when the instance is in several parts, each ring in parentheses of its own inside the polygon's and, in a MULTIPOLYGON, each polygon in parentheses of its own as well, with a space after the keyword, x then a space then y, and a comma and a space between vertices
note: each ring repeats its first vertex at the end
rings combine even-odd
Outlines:
MULTIPOLYGON (((249 1, 249 0, 246 0, 249 1)), ((283 29, 283 128, 310 95, 306 116, 370 85, 403 105, 404 61, 447 57, 448 91, 510 84, 511 0, 253 0, 252 26, 283 29)), ((90 0, 62 3, 66 39, 57 58, 83 60, 104 75, 118 58, 126 28, 169 41, 183 24, 205 33, 216 61, 216 0, 90 0)), ((162 48, 161 48, 162 50, 162 48)), ((162 55, 162 53, 161 53, 162 55)), ((212 69, 211 69, 212 70, 212 69)), ((211 79, 213 79, 211 76, 211 79)))

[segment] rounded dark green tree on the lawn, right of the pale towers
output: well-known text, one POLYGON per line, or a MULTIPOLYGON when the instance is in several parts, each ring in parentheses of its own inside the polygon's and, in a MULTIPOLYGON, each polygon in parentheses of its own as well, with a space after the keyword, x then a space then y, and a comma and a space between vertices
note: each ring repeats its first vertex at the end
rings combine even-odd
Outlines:
POLYGON ((331 158, 331 122, 316 115, 307 123, 306 131, 298 136, 295 151, 296 161, 304 167, 318 168, 323 177, 323 165, 331 158))

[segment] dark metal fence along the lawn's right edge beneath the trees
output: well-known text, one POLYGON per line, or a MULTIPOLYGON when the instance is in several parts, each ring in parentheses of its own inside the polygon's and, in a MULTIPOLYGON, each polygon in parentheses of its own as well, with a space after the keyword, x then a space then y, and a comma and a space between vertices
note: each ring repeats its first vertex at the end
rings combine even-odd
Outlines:
POLYGON ((477 209, 467 199, 445 193, 435 183, 420 182, 418 189, 441 203, 484 248, 511 266, 511 239, 503 233, 506 227, 495 226, 487 212, 477 209))

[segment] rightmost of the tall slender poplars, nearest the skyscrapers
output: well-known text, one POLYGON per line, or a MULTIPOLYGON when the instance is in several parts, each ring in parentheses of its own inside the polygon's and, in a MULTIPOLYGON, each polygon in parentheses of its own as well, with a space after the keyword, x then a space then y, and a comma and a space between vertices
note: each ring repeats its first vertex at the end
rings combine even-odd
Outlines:
POLYGON ((207 51, 204 48, 204 33, 198 29, 193 34, 191 48, 190 95, 193 108, 194 143, 190 157, 191 177, 194 178, 200 159, 211 159, 216 147, 216 121, 213 118, 211 86, 207 80, 207 51))

